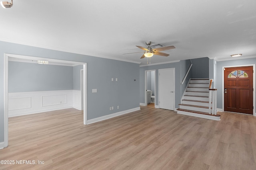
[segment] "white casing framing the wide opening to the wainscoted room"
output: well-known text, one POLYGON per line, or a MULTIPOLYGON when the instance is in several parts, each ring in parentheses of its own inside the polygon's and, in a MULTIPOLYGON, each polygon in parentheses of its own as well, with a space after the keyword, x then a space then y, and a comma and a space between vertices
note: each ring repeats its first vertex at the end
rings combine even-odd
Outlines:
MULTIPOLYGON (((62 64, 76 64, 82 65, 84 73, 83 73, 83 121, 84 125, 87 124, 87 82, 86 82, 86 70, 87 63, 75 62, 75 61, 64 61, 57 59, 47 59, 41 57, 31 57, 31 56, 22 56, 22 55, 13 55, 13 54, 4 54, 4 147, 8 147, 8 61, 10 59, 16 59, 17 61, 24 62, 24 60, 28 61, 49 61, 52 63, 62 63, 62 64)), ((63 96, 63 95, 62 95, 63 96)), ((43 96, 44 97, 44 96, 43 96)))

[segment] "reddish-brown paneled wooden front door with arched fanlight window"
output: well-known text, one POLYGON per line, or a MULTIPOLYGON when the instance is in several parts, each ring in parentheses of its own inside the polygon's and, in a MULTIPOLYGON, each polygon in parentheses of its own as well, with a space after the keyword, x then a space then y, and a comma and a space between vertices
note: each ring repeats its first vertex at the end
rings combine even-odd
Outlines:
POLYGON ((224 70, 224 111, 253 114, 253 67, 224 70))

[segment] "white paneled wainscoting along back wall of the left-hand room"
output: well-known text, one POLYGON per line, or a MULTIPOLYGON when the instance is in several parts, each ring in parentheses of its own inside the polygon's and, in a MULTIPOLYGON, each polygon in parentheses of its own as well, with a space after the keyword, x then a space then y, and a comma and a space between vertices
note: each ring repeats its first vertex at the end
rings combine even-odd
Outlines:
POLYGON ((8 117, 71 108, 73 95, 74 90, 9 93, 8 117))

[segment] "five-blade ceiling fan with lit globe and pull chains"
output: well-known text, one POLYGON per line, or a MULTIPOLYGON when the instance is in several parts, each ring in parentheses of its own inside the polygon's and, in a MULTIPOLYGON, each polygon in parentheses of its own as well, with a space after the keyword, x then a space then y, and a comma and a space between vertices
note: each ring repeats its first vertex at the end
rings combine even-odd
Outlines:
MULTIPOLYGON (((164 57, 167 57, 169 56, 169 54, 167 53, 162 53, 160 51, 165 51, 165 50, 170 50, 170 49, 175 49, 175 47, 172 45, 172 46, 166 46, 166 47, 159 47, 159 48, 155 48, 155 49, 152 49, 150 47, 150 45, 152 44, 152 41, 147 41, 146 42, 146 45, 148 45, 147 48, 144 48, 142 46, 139 46, 139 45, 136 45, 136 47, 144 50, 144 51, 141 51, 141 52, 135 52, 135 53, 142 53, 144 52, 144 54, 140 57, 141 59, 145 58, 145 57, 152 57, 153 55, 160 55, 160 56, 164 56, 164 57)), ((124 54, 132 54, 132 53, 124 53, 124 54)))

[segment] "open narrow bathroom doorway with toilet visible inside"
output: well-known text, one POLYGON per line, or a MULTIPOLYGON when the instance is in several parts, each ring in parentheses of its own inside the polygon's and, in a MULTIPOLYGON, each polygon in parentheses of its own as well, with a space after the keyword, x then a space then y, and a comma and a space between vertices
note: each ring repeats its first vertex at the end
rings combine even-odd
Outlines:
POLYGON ((145 106, 154 105, 156 96, 156 70, 145 71, 145 106))

